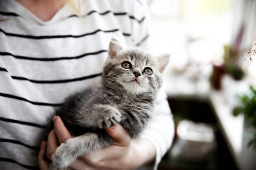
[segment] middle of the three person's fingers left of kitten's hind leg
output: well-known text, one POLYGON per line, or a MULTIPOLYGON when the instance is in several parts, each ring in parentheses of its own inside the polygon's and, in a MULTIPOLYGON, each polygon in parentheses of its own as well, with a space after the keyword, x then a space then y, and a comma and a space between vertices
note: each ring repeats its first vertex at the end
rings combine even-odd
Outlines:
POLYGON ((47 158, 52 160, 52 155, 55 153, 57 147, 59 146, 58 137, 55 133, 55 130, 52 130, 48 135, 47 141, 47 158))

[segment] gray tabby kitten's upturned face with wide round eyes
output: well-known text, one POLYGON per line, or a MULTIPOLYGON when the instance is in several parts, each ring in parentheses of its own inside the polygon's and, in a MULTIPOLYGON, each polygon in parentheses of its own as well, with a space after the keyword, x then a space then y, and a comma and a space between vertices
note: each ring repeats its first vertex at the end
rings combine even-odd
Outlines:
POLYGON ((114 40, 105 63, 103 83, 106 86, 122 85, 125 91, 132 94, 155 94, 162 83, 161 68, 157 58, 137 48, 122 50, 114 40))

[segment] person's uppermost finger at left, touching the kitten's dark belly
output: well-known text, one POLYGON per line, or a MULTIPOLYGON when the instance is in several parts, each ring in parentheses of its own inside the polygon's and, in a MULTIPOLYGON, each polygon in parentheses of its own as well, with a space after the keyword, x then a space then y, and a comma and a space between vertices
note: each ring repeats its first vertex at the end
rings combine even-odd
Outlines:
POLYGON ((66 142, 67 139, 73 138, 59 116, 55 116, 54 118, 54 130, 60 144, 66 142))

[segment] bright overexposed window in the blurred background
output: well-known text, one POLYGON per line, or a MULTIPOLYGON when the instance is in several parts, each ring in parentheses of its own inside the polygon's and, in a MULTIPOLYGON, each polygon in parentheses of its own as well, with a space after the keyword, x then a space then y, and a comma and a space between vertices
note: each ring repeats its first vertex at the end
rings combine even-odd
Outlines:
POLYGON ((221 59, 230 42, 232 0, 151 0, 150 11, 153 52, 174 65, 221 59))

